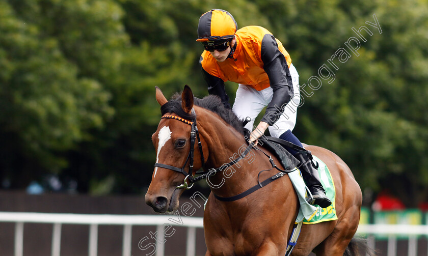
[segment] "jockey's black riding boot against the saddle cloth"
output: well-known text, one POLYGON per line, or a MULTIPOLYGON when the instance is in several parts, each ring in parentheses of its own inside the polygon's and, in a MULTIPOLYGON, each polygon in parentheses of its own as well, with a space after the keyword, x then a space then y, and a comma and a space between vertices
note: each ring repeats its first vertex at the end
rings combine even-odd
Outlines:
POLYGON ((300 170, 314 199, 314 202, 310 202, 310 197, 307 197, 306 201, 311 205, 319 205, 321 208, 326 208, 331 205, 331 201, 327 197, 326 191, 319 181, 318 170, 312 166, 312 162, 309 160, 309 157, 300 153, 295 155, 295 157, 303 164, 300 166, 300 170))

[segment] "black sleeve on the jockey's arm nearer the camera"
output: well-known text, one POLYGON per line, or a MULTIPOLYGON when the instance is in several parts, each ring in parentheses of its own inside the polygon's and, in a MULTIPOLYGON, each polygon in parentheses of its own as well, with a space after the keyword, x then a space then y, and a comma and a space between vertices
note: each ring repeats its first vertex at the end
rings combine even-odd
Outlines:
POLYGON ((273 35, 266 34, 261 43, 261 60, 263 69, 268 74, 269 81, 274 91, 272 101, 266 107, 261 121, 273 125, 284 112, 286 103, 293 96, 293 84, 284 54, 278 49, 278 44, 273 35))

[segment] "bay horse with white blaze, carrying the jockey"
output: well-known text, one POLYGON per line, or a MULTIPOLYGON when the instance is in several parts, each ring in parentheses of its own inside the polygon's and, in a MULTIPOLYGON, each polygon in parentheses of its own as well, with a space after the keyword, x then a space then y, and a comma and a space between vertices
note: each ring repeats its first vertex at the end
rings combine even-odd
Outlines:
MULTIPOLYGON (((242 121, 225 109, 217 96, 198 99, 185 86, 181 96, 168 101, 156 87, 156 100, 164 116, 152 135, 157 156, 146 204, 156 212, 174 211, 188 182, 194 181, 195 170, 203 167, 208 172, 240 158, 235 168, 207 177, 211 193, 203 221, 208 249, 205 255, 284 255, 299 211, 298 196, 288 175, 239 200, 218 200, 216 196, 238 195, 256 185, 260 170, 272 166, 264 154, 269 152, 263 147, 247 147, 242 121), (248 154, 244 155, 244 150, 248 154)), ((354 238, 362 193, 350 168, 327 149, 306 149, 330 169, 337 220, 304 224, 291 255, 303 256, 311 251, 317 256, 366 255, 365 243, 354 238), (358 252, 361 247, 364 251, 358 252)), ((280 164, 275 156, 272 159, 280 164)), ((277 173, 268 170, 259 178, 269 179, 277 173)))

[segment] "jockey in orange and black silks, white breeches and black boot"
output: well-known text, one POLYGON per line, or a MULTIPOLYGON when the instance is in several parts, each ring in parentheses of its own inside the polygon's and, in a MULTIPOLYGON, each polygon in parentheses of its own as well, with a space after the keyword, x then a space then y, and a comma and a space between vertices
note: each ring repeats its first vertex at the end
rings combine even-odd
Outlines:
MULTIPOLYGON (((200 64, 209 94, 219 96, 224 106, 230 108, 224 82, 239 84, 232 110, 240 119, 251 118, 245 126, 247 129, 253 130, 255 118, 267 106, 249 141, 257 143, 269 128, 271 136, 303 147, 291 132, 300 104, 299 74, 278 39, 260 26, 237 30, 236 21, 229 12, 213 9, 199 18, 196 41, 205 49, 200 64)), ((322 208, 331 205, 309 157, 288 150, 306 163, 300 169, 314 198, 311 203, 322 208)))

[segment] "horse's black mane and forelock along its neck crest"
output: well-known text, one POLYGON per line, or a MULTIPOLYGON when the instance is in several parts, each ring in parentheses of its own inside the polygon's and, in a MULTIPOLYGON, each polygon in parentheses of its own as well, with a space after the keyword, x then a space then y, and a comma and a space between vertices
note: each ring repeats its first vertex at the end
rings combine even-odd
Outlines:
MULTIPOLYGON (((235 115, 232 109, 224 107, 220 97, 215 95, 209 95, 202 99, 194 97, 194 104, 217 113, 217 115, 219 115, 226 123, 231 125, 236 131, 245 135, 246 131, 242 125, 243 121, 235 115)), ((179 93, 173 95, 171 100, 161 107, 161 112, 162 115, 165 115, 168 112, 174 112, 179 117, 187 120, 192 120, 195 118, 195 115, 189 115, 181 107, 181 94, 179 93)))

